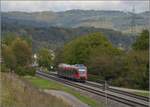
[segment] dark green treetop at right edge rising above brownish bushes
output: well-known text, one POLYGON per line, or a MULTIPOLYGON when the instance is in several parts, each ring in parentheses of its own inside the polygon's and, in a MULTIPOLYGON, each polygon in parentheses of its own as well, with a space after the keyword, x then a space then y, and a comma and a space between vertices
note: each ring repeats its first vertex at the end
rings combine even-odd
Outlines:
POLYGON ((141 35, 136 39, 133 44, 134 50, 146 50, 149 49, 149 31, 143 30, 141 35))

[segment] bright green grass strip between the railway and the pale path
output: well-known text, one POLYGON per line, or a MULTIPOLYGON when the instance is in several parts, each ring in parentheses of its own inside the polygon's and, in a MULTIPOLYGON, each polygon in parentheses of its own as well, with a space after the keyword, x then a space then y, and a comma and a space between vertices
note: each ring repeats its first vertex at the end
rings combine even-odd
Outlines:
POLYGON ((66 87, 63 84, 60 84, 55 81, 49 81, 42 79, 40 77, 25 77, 28 81, 30 81, 34 86, 39 87, 41 89, 53 89, 53 90, 61 90, 67 93, 72 94, 82 102, 88 104, 91 107, 104 107, 104 104, 101 102, 96 102, 88 96, 81 95, 79 92, 74 91, 73 88, 66 87))

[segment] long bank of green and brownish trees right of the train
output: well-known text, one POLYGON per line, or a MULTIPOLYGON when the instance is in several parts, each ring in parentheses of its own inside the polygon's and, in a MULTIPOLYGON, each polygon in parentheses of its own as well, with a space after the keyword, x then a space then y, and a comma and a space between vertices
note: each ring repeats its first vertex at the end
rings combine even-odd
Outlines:
POLYGON ((58 63, 85 64, 89 80, 148 90, 149 31, 139 35, 130 51, 113 47, 101 33, 79 37, 59 50, 55 65, 58 63))

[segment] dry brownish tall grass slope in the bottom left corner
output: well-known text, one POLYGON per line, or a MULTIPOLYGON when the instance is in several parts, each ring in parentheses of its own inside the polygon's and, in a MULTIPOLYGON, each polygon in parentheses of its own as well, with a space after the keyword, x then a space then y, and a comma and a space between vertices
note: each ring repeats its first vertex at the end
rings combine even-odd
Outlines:
POLYGON ((1 73, 1 85, 1 107, 71 107, 12 73, 1 73))

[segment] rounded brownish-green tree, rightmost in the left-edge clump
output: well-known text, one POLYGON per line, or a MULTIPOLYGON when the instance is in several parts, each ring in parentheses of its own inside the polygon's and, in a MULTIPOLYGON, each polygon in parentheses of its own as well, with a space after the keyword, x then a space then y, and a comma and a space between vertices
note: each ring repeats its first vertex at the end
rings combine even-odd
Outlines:
POLYGON ((16 38, 12 43, 12 51, 18 66, 29 66, 31 64, 32 50, 25 40, 16 38))

